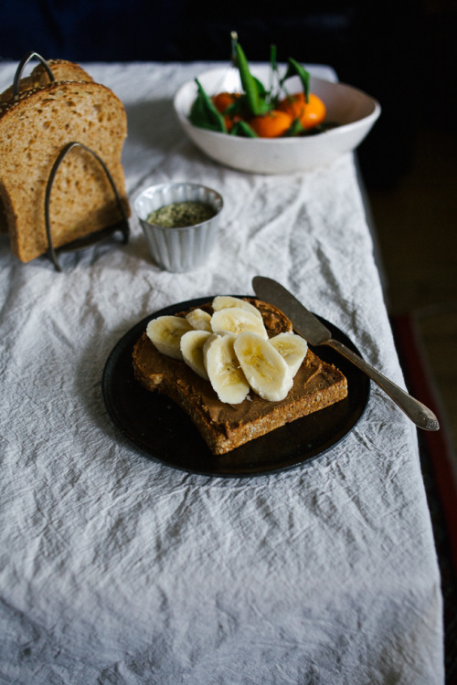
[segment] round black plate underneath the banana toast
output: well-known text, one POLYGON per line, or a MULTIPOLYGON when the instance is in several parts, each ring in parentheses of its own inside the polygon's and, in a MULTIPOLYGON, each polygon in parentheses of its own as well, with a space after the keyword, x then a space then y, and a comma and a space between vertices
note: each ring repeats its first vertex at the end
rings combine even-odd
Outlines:
MULTIPOLYGON (((238 296, 239 297, 239 296, 238 296)), ((317 353, 335 364, 347 378, 348 395, 333 406, 271 431, 266 436, 216 457, 207 448, 186 413, 164 395, 150 393, 133 376, 132 353, 147 322, 157 316, 186 311, 212 298, 179 302, 139 321, 115 345, 105 364, 102 393, 113 423, 145 456, 176 469, 208 476, 255 476, 290 469, 334 447, 363 415, 369 395, 369 379, 332 348, 317 353)), ((334 325, 321 319, 332 335, 359 353, 334 325)))

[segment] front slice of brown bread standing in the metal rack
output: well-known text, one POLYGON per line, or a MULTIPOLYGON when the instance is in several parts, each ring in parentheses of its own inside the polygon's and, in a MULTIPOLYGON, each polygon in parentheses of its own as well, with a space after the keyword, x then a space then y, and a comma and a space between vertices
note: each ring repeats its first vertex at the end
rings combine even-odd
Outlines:
MULTIPOLYGON (((121 163, 126 135, 121 100, 93 81, 52 81, 0 103, 0 200, 16 257, 28 262, 48 250, 46 188, 58 153, 69 142, 100 155, 130 214, 121 163)), ((100 163, 83 148, 73 148, 59 166, 49 215, 55 248, 121 219, 100 163)))

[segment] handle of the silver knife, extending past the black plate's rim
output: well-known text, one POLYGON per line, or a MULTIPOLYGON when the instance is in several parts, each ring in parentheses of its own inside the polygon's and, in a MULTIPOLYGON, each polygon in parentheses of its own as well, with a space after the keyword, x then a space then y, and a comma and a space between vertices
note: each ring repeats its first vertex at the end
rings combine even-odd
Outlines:
POLYGON ((409 416, 416 426, 423 428, 424 430, 439 430, 440 424, 438 423, 438 419, 427 406, 422 405, 419 400, 408 395, 408 393, 402 390, 399 385, 395 385, 395 383, 389 381, 385 375, 380 374, 373 366, 367 364, 367 362, 359 357, 358 354, 349 350, 343 342, 331 338, 330 340, 325 341, 324 344, 333 347, 337 352, 348 359, 349 362, 352 362, 361 371, 367 374, 371 380, 377 383, 390 399, 409 416))

